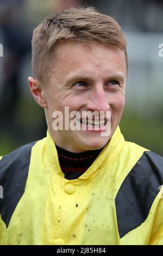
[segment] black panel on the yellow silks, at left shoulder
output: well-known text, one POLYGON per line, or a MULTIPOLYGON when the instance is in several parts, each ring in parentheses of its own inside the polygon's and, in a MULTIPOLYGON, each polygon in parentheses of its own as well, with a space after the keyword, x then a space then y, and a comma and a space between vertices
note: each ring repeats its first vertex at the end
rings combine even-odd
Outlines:
POLYGON ((8 227, 12 214, 23 196, 28 169, 30 153, 36 142, 24 145, 12 153, 3 156, 0 161, 0 185, 3 187, 3 198, 0 198, 0 214, 8 227))

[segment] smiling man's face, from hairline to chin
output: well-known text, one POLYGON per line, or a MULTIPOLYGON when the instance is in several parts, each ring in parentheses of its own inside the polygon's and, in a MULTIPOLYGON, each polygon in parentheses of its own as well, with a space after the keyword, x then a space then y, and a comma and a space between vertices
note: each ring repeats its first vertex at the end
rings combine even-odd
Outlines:
POLYGON ((62 42, 55 51, 43 89, 49 133, 55 144, 74 153, 103 148, 115 132, 124 108, 125 54, 114 46, 93 43, 89 48, 78 42, 62 42), (53 112, 61 111, 65 118, 65 107, 70 112, 78 111, 81 117, 83 111, 110 111, 110 135, 102 137, 101 130, 95 129, 54 131, 53 112))

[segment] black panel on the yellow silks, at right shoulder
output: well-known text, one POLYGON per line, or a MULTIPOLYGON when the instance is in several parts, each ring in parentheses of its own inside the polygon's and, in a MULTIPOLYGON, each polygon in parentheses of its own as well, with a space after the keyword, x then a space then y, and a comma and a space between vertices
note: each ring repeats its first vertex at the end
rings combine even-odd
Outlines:
POLYGON ((163 184, 163 157, 145 151, 117 193, 116 215, 120 238, 139 227, 163 184))

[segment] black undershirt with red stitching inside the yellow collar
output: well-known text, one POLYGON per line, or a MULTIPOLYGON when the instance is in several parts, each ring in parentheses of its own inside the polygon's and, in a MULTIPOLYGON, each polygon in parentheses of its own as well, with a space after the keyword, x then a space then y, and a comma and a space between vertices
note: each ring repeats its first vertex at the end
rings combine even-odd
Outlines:
POLYGON ((77 179, 95 161, 102 149, 86 151, 83 153, 72 153, 56 146, 59 163, 67 180, 77 179))

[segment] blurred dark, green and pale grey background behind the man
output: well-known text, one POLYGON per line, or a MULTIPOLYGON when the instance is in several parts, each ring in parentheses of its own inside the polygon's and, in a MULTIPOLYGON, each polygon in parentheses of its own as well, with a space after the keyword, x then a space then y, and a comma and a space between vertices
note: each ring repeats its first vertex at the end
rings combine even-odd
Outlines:
POLYGON ((127 141, 163 156, 163 2, 159 0, 0 0, 0 156, 46 136, 44 111, 29 93, 33 29, 46 16, 89 4, 114 17, 128 40, 126 108, 120 123, 127 141))

